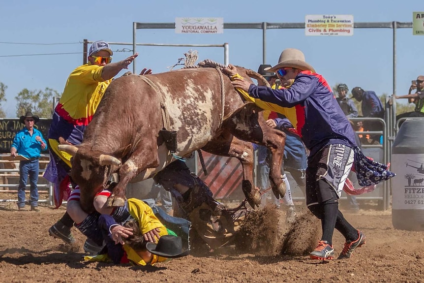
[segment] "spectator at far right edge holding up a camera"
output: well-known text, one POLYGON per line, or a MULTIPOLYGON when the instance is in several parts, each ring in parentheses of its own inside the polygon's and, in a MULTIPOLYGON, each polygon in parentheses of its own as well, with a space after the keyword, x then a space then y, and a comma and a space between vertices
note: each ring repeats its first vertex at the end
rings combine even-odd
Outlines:
POLYGON ((396 120, 404 117, 424 117, 424 76, 418 76, 417 80, 413 81, 409 87, 408 94, 401 96, 394 95, 394 98, 408 98, 409 103, 415 104, 415 110, 413 112, 399 114, 396 116, 396 120), (413 90, 417 90, 415 94, 412 94, 413 90))

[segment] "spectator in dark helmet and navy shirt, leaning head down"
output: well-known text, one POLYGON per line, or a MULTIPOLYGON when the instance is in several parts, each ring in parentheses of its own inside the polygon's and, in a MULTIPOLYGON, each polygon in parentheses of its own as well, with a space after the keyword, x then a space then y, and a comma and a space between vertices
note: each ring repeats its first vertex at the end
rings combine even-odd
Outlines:
MULTIPOLYGON (((384 119, 384 107, 377 94, 373 91, 364 91, 360 87, 352 89, 352 97, 358 101, 362 101, 361 109, 362 115, 366 118, 382 118, 384 119)), ((379 131, 383 129, 379 121, 363 121, 363 128, 365 131, 379 131)), ((371 143, 380 143, 379 134, 371 134, 371 143)))

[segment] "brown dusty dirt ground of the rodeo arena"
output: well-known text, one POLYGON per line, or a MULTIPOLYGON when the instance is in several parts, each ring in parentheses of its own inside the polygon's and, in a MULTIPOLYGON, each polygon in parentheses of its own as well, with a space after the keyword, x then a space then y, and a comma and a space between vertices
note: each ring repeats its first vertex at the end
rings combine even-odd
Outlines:
MULTIPOLYGON (((289 228, 284 212, 267 207, 253 218, 261 221, 259 229, 243 228, 250 233, 250 242, 134 267, 84 261, 85 238, 75 228, 77 245, 50 237, 48 228, 61 218, 64 208, 41 206, 38 213, 20 212, 15 203, 1 203, 0 282, 424 282, 424 233, 394 230, 390 210, 363 208, 343 212, 367 237, 366 245, 350 259, 310 260, 303 253, 317 244, 317 235, 304 225, 310 221, 307 214, 287 238, 283 237, 289 228)), ((305 211, 302 204, 299 211, 305 211)), ((336 256, 343 243, 335 231, 336 256)))

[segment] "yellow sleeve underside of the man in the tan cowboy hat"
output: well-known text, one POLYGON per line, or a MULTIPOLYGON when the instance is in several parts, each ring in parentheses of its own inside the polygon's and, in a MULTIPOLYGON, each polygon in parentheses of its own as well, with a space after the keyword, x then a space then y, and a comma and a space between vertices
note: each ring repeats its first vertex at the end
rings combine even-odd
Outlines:
MULTIPOLYGON (((230 79, 232 81, 234 81, 235 78, 243 79, 243 77, 239 74, 235 74, 235 75, 230 77, 230 79)), ((273 86, 273 89, 275 89, 275 85, 273 86)), ((253 102, 253 103, 255 103, 256 105, 258 105, 259 107, 261 107, 262 109, 265 110, 264 111, 265 120, 268 119, 270 112, 273 111, 273 112, 277 112, 277 113, 280 113, 280 114, 286 116, 294 127, 297 126, 296 110, 295 110, 294 107, 287 108, 287 107, 282 107, 282 106, 279 106, 278 104, 274 104, 274 103, 271 103, 271 102, 262 101, 259 98, 254 98, 254 97, 250 96, 247 92, 245 92, 245 91, 243 91, 242 89, 239 89, 239 88, 237 88, 237 91, 240 94, 242 94, 242 96, 244 97, 244 99, 246 101, 253 102)))

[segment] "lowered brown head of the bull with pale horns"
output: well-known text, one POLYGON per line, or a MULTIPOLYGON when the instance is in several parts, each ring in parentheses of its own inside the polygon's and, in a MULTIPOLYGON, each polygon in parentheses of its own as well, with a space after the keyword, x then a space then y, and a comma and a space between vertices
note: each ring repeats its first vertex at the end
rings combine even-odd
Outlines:
POLYGON ((60 151, 72 155, 70 176, 80 190, 81 208, 87 213, 94 211, 93 199, 96 193, 104 189, 109 177, 119 168, 121 160, 99 151, 77 148, 72 145, 60 145, 60 151))

